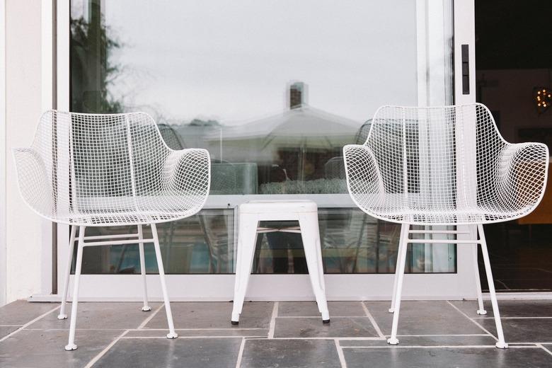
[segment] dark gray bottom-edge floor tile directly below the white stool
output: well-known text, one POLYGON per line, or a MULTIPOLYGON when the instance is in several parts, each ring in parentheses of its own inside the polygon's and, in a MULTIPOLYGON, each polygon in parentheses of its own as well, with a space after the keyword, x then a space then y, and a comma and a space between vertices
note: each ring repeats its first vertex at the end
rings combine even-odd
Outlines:
POLYGON ((340 367, 333 340, 246 340, 241 368, 340 367))

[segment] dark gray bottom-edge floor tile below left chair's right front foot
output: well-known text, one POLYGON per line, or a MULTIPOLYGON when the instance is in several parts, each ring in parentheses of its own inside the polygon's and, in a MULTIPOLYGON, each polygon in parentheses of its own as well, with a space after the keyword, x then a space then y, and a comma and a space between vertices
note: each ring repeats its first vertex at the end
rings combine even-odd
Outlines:
POLYGON ((94 367, 236 367, 241 338, 128 338, 115 345, 94 367))

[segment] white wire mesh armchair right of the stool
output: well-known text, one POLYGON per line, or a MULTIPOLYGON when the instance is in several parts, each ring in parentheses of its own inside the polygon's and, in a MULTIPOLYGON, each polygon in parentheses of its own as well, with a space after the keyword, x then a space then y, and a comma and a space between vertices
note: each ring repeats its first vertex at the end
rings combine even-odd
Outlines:
MULTIPOLYGON (((498 333, 507 347, 495 295, 483 224, 529 214, 546 188, 548 147, 509 144, 481 104, 439 108, 383 106, 376 111, 363 145, 343 148, 347 188, 367 214, 402 224, 393 301, 391 338, 397 326, 408 243, 481 244, 498 333), (477 225, 472 240, 413 239, 410 234, 465 234, 452 230, 410 230, 412 225, 477 225)), ((476 248, 477 250, 477 248, 476 248)), ((474 253, 478 314, 486 314, 474 253)))

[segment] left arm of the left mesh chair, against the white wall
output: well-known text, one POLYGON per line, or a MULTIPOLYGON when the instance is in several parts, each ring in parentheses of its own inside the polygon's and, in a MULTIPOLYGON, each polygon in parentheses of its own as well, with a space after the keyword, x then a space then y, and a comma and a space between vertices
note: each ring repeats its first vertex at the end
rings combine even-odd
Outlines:
POLYGON ((13 149, 21 197, 35 212, 53 219, 52 180, 40 154, 31 148, 13 149))

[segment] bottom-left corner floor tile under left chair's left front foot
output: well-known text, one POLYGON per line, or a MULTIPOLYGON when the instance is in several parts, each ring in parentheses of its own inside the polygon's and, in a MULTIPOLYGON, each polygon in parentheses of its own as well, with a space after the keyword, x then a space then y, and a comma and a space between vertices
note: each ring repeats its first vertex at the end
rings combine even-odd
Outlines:
POLYGON ((115 330, 77 330, 77 350, 67 352, 64 330, 21 330, 0 343, 0 367, 84 367, 120 334, 115 330))

